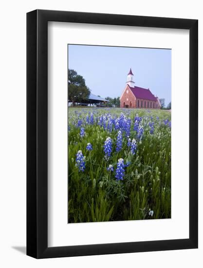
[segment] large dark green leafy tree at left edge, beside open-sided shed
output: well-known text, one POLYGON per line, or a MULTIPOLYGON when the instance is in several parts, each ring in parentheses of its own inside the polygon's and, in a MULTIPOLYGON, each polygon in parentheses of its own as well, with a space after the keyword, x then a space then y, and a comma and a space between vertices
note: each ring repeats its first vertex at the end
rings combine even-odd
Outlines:
POLYGON ((76 71, 68 69, 68 99, 73 102, 82 102, 90 96, 90 89, 85 84, 85 79, 76 71))

